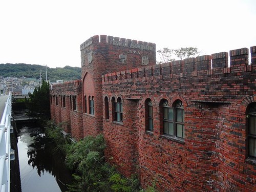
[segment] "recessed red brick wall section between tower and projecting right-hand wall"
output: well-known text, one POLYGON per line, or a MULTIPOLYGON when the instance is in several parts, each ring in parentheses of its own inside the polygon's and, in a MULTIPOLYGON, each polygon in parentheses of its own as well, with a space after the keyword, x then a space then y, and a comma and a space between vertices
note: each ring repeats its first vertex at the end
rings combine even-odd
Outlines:
MULTIPOLYGON (((112 97, 116 97, 112 95, 112 97)), ((105 158, 125 176, 137 172, 138 165, 138 100, 123 102, 123 122, 113 122, 112 104, 110 98, 110 119, 104 122, 104 138, 107 146, 105 158)), ((105 115, 105 114, 104 114, 105 115)), ((104 116, 105 117, 105 116, 104 116)))

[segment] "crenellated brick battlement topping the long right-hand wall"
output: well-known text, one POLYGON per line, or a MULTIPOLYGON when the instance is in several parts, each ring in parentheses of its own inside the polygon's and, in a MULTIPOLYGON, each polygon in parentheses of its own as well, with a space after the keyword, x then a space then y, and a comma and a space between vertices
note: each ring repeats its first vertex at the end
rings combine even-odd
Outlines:
POLYGON ((234 72, 240 75, 243 72, 252 72, 256 66, 256 46, 251 47, 251 65, 248 63, 249 50, 247 48, 231 50, 230 67, 228 53, 220 52, 211 55, 202 55, 196 58, 176 60, 161 65, 147 66, 120 72, 102 75, 103 84, 122 83, 127 81, 146 81, 149 78, 183 78, 193 76, 214 76, 234 72))

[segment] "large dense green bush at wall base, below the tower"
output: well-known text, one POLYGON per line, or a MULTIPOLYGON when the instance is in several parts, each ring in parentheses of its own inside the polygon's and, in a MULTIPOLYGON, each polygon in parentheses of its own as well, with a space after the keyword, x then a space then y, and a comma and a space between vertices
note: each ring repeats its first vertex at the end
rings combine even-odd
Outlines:
POLYGON ((73 185, 69 191, 111 191, 107 182, 113 168, 104 162, 104 138, 87 136, 70 145, 67 150, 66 164, 76 170, 73 185))

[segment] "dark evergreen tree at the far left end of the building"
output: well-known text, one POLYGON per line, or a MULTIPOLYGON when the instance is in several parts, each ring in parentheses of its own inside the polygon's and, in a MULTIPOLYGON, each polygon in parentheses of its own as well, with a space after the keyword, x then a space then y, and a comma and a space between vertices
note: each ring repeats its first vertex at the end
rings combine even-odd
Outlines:
POLYGON ((25 104, 29 109, 28 115, 32 117, 50 118, 50 94, 49 83, 42 79, 41 86, 35 87, 34 92, 29 93, 29 98, 25 99, 25 104))

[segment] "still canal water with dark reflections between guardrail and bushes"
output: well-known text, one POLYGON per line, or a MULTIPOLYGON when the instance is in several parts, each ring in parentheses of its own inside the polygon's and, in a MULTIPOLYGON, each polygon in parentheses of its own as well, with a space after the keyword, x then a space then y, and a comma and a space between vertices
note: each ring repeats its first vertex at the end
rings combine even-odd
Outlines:
POLYGON ((65 157, 36 124, 17 125, 22 192, 66 191, 72 174, 65 157))

